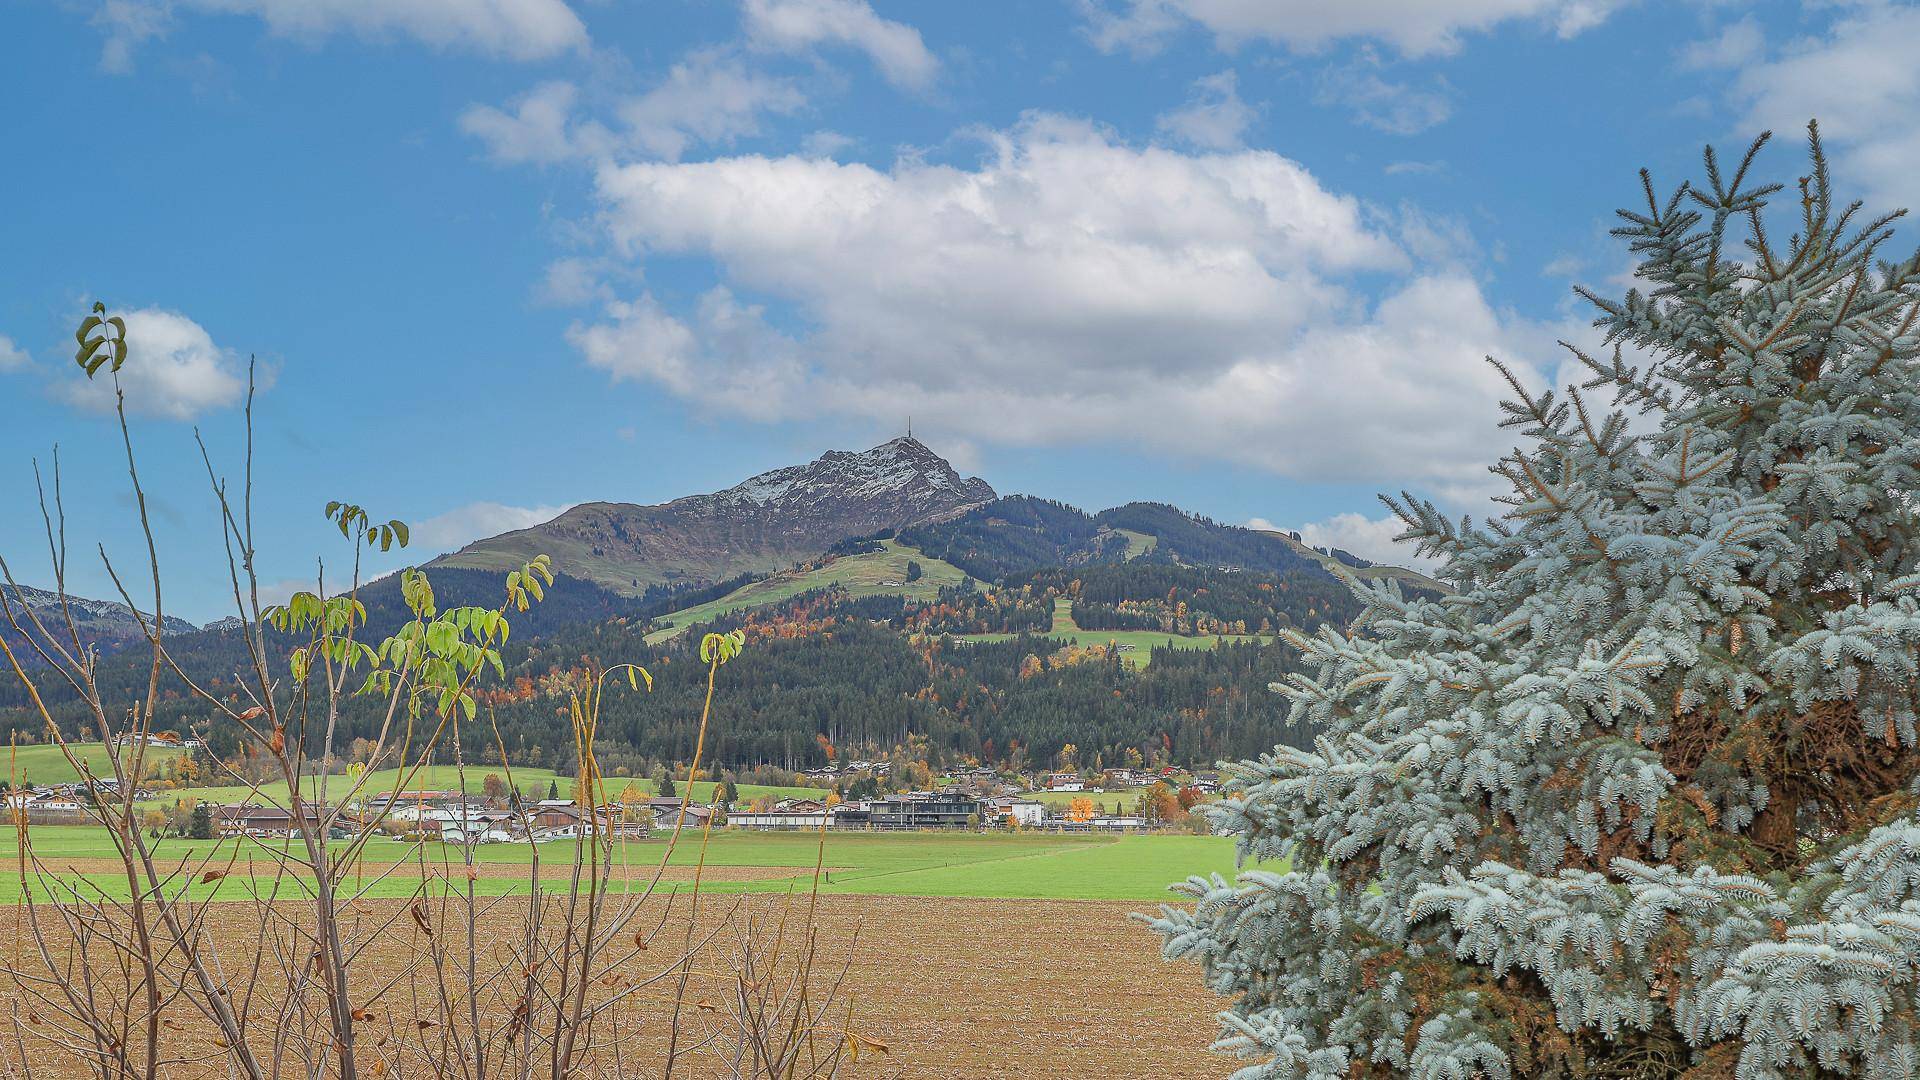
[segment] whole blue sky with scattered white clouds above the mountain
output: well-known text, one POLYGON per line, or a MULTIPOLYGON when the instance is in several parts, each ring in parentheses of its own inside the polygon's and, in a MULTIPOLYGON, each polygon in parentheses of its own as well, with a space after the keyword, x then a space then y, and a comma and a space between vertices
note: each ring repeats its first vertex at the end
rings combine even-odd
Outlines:
MULTIPOLYGON (((1634 171, 1818 115, 1914 202, 1920 12, 1624 0, 0 2, 0 496, 61 448, 71 586, 225 613, 196 427, 263 392, 261 575, 321 505, 420 550, 897 434, 1002 492, 1165 500, 1382 553, 1484 505, 1482 356, 1565 380, 1634 171)), ((0 553, 46 584, 40 523, 0 553)), ((382 563, 382 567, 397 561, 382 563)))

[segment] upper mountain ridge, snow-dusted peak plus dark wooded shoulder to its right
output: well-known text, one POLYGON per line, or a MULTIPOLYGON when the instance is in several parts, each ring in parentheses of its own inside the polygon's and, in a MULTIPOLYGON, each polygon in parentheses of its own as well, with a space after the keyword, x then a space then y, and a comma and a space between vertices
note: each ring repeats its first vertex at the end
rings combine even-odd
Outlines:
POLYGON ((543 552, 559 573, 620 596, 657 598, 778 573, 837 544, 877 536, 899 536, 979 580, 1146 557, 1277 573, 1342 563, 1363 577, 1434 586, 1413 571, 1309 548, 1296 534, 1221 525, 1165 503, 1087 515, 1033 496, 1000 498, 987 480, 962 479, 912 436, 862 454, 831 450, 707 496, 659 505, 582 503, 543 525, 476 540, 428 567, 509 571, 543 552))

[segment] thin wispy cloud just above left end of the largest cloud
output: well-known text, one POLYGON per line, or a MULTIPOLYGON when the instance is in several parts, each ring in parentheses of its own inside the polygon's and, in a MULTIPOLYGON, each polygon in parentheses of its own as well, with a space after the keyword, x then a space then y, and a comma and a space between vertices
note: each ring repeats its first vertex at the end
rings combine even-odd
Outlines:
POLYGON ((461 131, 501 163, 601 161, 618 154, 678 160, 695 144, 728 144, 760 133, 762 115, 806 106, 787 79, 753 71, 724 50, 699 50, 647 90, 620 98, 614 127, 578 119, 572 83, 541 83, 507 110, 468 106, 461 131))

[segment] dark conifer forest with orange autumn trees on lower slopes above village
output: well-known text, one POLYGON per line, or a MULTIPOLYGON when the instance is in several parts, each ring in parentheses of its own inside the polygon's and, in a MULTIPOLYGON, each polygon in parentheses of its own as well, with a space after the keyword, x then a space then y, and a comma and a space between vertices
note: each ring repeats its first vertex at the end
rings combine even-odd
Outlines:
MULTIPOLYGON (((436 582, 444 575, 444 569, 432 571, 436 582)), ((459 580, 455 590, 468 584, 465 575, 449 580, 459 580)), ((580 584, 549 596, 557 594, 561 603, 597 603, 593 586, 582 590, 580 584)), ((1129 749, 1144 761, 1181 765, 1258 753, 1273 742, 1304 738, 1286 730, 1277 698, 1265 690, 1290 671, 1284 648, 1248 640, 1212 650, 1154 650, 1152 663, 1137 665, 1100 646, 1077 648, 1043 634, 1060 596, 1079 596, 1075 611, 1089 617, 1114 611, 1148 619, 1148 611, 1162 611, 1156 605, 1171 590, 1190 598, 1173 632, 1217 621, 1244 619, 1258 628, 1352 617, 1350 601, 1332 600, 1336 582, 1331 578, 1327 596, 1263 584, 1275 580, 1160 565, 1127 567, 1125 573, 1089 567, 1081 575, 1031 575, 993 590, 945 588, 931 601, 820 590, 737 611, 712 623, 714 628, 745 628, 749 644, 726 669, 730 690, 716 703, 708 755, 737 769, 799 769, 828 763, 829 746, 833 753, 902 757, 902 763, 931 767, 1048 763, 1066 744, 1075 744, 1085 763, 1117 763, 1129 749), (1129 575, 1140 575, 1137 586, 1123 584, 1129 575), (1242 577, 1244 588, 1238 580, 1231 586, 1219 580, 1242 577), (1154 600, 1129 600, 1135 594, 1154 600), (1008 636, 977 642, 952 636, 968 632, 1008 636)), ((371 590, 369 598, 369 613, 376 623, 386 621, 382 592, 371 590)), ((1177 603, 1165 611, 1177 611, 1177 603)), ((505 650, 505 680, 495 680, 482 696, 482 723, 463 730, 472 759, 497 757, 490 730, 497 724, 516 763, 568 767, 570 742, 555 736, 564 730, 561 715, 568 694, 584 690, 593 671, 620 661, 647 665, 655 686, 651 694, 624 686, 609 692, 603 765, 639 773, 691 755, 705 692, 699 634, 647 644, 647 623, 637 615, 570 625, 541 625, 528 615, 516 617, 524 628, 515 630, 505 650)), ((282 651, 286 642, 273 640, 271 648, 282 651)), ((196 634, 182 650, 182 667, 215 688, 230 686, 244 663, 238 630, 196 634)), ((109 667, 129 690, 146 678, 144 665, 131 659, 109 667)), ((17 703, 8 696, 17 690, 0 688, 0 700, 17 703)), ((63 723, 81 721, 71 701, 56 713, 63 723)), ((159 724, 204 726, 213 749, 228 751, 234 732, 204 721, 205 709, 192 707, 165 678, 159 724)), ((371 705, 349 707, 342 717, 342 746, 372 734, 378 721, 371 705)), ((38 732, 21 728, 19 734, 38 732)))

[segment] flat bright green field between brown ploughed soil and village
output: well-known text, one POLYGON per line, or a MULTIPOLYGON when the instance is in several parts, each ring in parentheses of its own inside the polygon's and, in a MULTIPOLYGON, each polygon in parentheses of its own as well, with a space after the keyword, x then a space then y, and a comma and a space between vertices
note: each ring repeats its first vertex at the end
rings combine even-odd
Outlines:
MULTIPOLYGON (((61 880, 83 880, 83 888, 98 888, 108 894, 125 894, 125 882, 92 863, 111 859, 113 849, 104 830, 94 826, 35 826, 33 846, 42 863, 60 871, 61 880)), ((227 865, 238 855, 232 872, 215 884, 194 886, 200 896, 240 899, 246 890, 265 884, 269 855, 250 840, 161 840, 157 859, 163 865, 186 861, 190 874, 198 874, 200 859, 213 857, 213 865, 227 865), (253 865, 255 878, 248 878, 248 863, 253 865)), ((6 851, 0 867, 0 903, 17 903, 21 884, 17 861, 13 859, 15 836, 12 828, 0 828, 0 849, 6 851)), ((622 865, 641 869, 659 863, 666 849, 664 838, 645 842, 624 842, 616 859, 622 865)), ((541 865, 549 880, 559 880, 559 869, 570 859, 572 847, 566 844, 547 844, 540 849, 541 865)), ((501 876, 493 867, 526 865, 534 847, 524 844, 493 844, 476 847, 476 861, 488 869, 476 882, 480 892, 503 894, 524 890, 524 882, 501 876)), ((685 867, 699 859, 699 834, 682 834, 680 847, 670 859, 680 867, 680 880, 662 882, 662 888, 685 888, 685 867)), ((367 878, 376 878, 378 871, 397 859, 420 861, 428 872, 438 872, 449 880, 465 882, 461 849, 438 842, 403 844, 397 840, 378 840, 367 851, 367 878)), ((1062 836, 1039 832, 1016 834, 966 834, 966 832, 912 832, 912 834, 858 834, 828 832, 735 832, 716 830, 707 851, 707 867, 714 869, 714 878, 703 888, 708 892, 787 892, 804 890, 812 884, 814 863, 824 861, 829 874, 822 880, 820 892, 839 894, 877 894, 902 897, 1025 897, 1025 899, 1133 899, 1154 901, 1169 897, 1167 886, 1190 874, 1233 874, 1233 842, 1217 836, 1062 836), (824 859, 820 844, 826 842, 824 859), (737 867, 770 869, 751 880, 737 874, 728 880, 728 871, 737 867), (791 872, 781 872, 791 871, 791 872)), ((394 874, 380 880, 369 896, 407 896, 419 886, 420 874, 394 874)), ((298 896, 298 894, 296 894, 298 896)))

